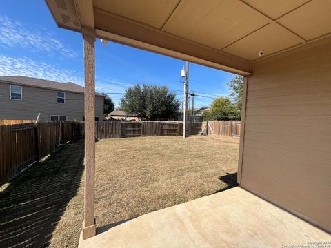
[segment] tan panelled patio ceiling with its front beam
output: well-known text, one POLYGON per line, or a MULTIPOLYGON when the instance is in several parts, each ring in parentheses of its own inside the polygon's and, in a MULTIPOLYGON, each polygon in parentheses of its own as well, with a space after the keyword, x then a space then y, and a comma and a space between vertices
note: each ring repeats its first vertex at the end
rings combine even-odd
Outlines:
POLYGON ((325 0, 46 3, 61 28, 243 75, 250 74, 252 61, 331 32, 331 1, 325 0))

